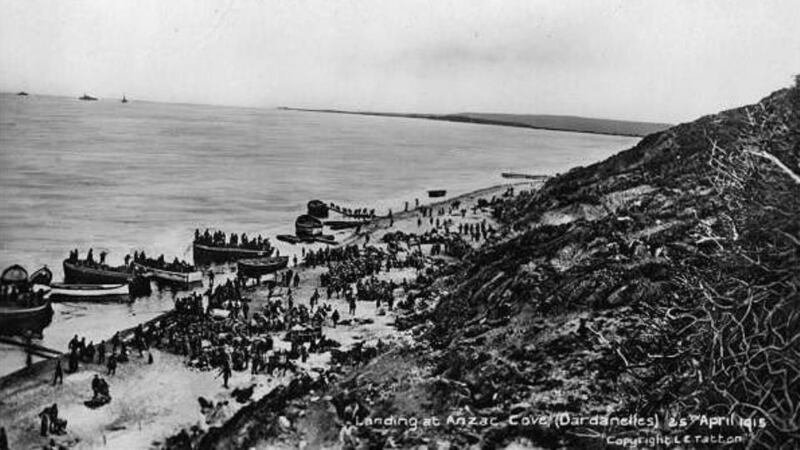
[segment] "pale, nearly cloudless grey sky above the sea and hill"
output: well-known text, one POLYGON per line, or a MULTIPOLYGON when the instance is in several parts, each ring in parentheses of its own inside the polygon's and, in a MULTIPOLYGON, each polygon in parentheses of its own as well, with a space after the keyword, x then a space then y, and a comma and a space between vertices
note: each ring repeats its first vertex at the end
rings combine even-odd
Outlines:
POLYGON ((0 91, 684 122, 800 73, 797 0, 0 0, 0 91))

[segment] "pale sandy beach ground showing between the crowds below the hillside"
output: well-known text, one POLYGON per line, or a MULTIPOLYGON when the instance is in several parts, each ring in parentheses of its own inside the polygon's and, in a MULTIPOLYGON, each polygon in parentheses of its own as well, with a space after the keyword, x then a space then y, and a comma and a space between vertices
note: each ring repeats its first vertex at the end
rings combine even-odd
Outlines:
MULTIPOLYGON (((478 191, 466 193, 446 200, 424 204, 434 210, 450 211, 454 202, 460 203, 459 209, 467 212, 462 216, 456 211, 453 214, 435 216, 439 219, 450 219, 453 226, 463 223, 480 223, 486 220, 492 224, 490 211, 473 209, 479 199, 490 200, 500 197, 510 185, 498 185, 478 191)), ((515 189, 530 189, 535 184, 515 183, 515 189)), ((364 226, 358 233, 338 232, 340 245, 355 244, 363 246, 367 240, 369 245, 385 249, 381 238, 388 232, 425 233, 436 228, 436 221, 418 220, 419 211, 412 209, 397 212, 392 219, 380 218, 364 226)), ((306 249, 318 248, 306 246, 306 249)), ((479 245, 479 243, 473 243, 479 245)), ((291 249, 300 258, 302 244, 291 249)), ((430 253, 430 245, 422 245, 424 254, 430 253)), ((284 247, 282 254, 286 254, 284 247)), ((431 258, 431 256, 428 256, 431 258)), ((327 269, 323 267, 294 268, 300 277, 299 286, 293 290, 293 298, 298 304, 308 304, 315 289, 320 286, 320 275, 327 269)), ((380 279, 413 280, 416 270, 411 268, 395 268, 380 274, 380 279)), ((249 287, 243 293, 252 299, 251 310, 259 311, 267 302, 267 289, 262 286, 249 287)), ((279 288, 274 295, 284 295, 285 288, 279 288)), ((402 295, 402 294, 401 294, 402 295)), ((343 299, 324 299, 339 311, 347 325, 336 328, 324 327, 324 334, 341 344, 346 350, 355 343, 374 345, 379 339, 405 339, 408 336, 398 333, 393 328, 394 317, 376 309, 375 302, 358 302, 356 314, 347 314, 347 304, 343 299)), ((158 319, 156 319, 158 320, 158 319)), ((75 330, 80 333, 80 330, 75 330)), ((123 338, 130 339, 128 330, 123 338)), ((288 348, 289 343, 283 341, 284 333, 275 336, 276 348, 288 348)), ((110 338, 110 336, 109 336, 110 338)), ((159 447, 164 440, 181 429, 207 430, 210 426, 219 426, 231 417, 244 404, 237 403, 230 395, 236 388, 254 386, 251 400, 257 400, 270 392, 274 387, 287 383, 290 376, 270 376, 266 374, 250 374, 249 370, 233 372, 226 389, 218 377, 217 371, 201 371, 186 365, 186 358, 169 352, 152 350, 154 363, 147 363, 147 355, 139 357, 136 351, 131 353, 130 362, 120 364, 116 375, 106 377, 111 388, 112 401, 101 408, 89 409, 83 402, 91 398, 90 382, 95 374, 105 375, 105 367, 98 364, 82 364, 74 374, 65 374, 63 385, 53 386, 54 361, 42 361, 31 367, 15 372, 0 379, 0 417, 1 426, 5 427, 11 448, 38 448, 46 444, 50 437, 39 435, 38 414, 47 406, 56 403, 59 415, 68 421, 67 433, 53 436, 55 441, 68 448, 148 448, 159 447), (201 412, 198 398, 203 397, 220 405, 211 413, 201 412)), ((329 366, 330 353, 312 354, 305 363, 298 363, 302 371, 316 376, 329 366)), ((245 403, 246 404, 246 403, 245 403)))

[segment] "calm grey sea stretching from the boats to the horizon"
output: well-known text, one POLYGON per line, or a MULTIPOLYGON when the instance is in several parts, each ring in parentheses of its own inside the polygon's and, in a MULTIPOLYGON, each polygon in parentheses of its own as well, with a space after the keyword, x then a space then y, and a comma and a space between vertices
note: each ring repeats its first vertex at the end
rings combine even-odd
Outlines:
MULTIPOLYGON (((0 269, 48 266, 72 249, 135 250, 191 261, 196 228, 291 234, 309 200, 400 211, 507 183, 502 172, 557 174, 638 139, 422 119, 131 99, 0 94, 0 269)), ((278 243, 279 248, 285 247, 278 243)), ((283 248, 282 254, 288 254, 283 248)), ((156 291, 131 304, 56 304, 38 344, 108 339, 173 307, 156 291)), ((0 376, 25 364, 0 344, 0 376)))

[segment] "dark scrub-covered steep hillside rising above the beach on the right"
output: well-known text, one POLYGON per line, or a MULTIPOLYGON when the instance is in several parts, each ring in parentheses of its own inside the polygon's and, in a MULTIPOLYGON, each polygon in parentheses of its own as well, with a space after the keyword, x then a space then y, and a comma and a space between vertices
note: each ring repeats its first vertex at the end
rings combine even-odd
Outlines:
POLYGON ((258 427, 222 434, 335 445, 357 402, 364 417, 448 418, 358 427, 370 448, 797 448, 798 172, 795 86, 499 200, 504 236, 432 267, 401 304, 415 343, 288 406, 254 404, 258 427), (280 414, 315 425, 253 431, 280 414), (658 425, 580 420, 610 416, 658 425), (575 421, 537 421, 554 417, 575 421))

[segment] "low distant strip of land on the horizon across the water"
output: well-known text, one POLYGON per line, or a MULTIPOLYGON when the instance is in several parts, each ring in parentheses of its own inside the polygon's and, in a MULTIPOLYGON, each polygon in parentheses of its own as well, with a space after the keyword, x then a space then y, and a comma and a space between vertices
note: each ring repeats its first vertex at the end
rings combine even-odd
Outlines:
POLYGON ((570 131, 576 133, 610 134, 616 136, 646 136, 670 127, 669 124, 652 122, 632 122, 625 120, 594 119, 577 116, 552 116, 534 114, 494 114, 494 113, 457 113, 457 114, 411 114, 381 113, 367 111, 343 111, 336 109, 303 109, 279 108, 285 111, 304 111, 332 114, 355 114, 362 116, 404 117, 409 119, 442 120, 446 122, 474 123, 482 125, 498 125, 518 128, 534 128, 553 131, 570 131))

